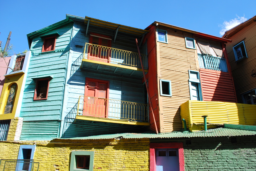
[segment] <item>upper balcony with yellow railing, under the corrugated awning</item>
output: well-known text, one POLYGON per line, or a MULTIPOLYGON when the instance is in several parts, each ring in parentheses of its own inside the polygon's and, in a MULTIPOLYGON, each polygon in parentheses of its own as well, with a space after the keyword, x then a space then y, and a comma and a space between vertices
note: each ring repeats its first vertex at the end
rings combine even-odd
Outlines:
MULTIPOLYGON (((141 54, 144 71, 148 72, 147 55, 141 54)), ((142 67, 139 54, 131 51, 115 49, 85 43, 82 69, 142 77, 142 67)))

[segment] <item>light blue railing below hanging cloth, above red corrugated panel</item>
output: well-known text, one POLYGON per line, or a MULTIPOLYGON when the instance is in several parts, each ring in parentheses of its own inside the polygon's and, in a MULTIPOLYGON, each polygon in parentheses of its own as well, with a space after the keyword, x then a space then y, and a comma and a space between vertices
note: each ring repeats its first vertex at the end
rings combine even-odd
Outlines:
POLYGON ((226 59, 198 54, 200 68, 228 72, 226 59))

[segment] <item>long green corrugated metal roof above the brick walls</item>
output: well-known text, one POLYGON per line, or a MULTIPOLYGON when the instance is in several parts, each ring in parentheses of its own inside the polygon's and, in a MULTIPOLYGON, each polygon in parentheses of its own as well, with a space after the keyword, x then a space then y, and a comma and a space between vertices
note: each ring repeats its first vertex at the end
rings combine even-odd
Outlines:
MULTIPOLYGON (((251 130, 239 130, 232 128, 216 128, 207 131, 197 132, 169 132, 160 134, 138 134, 138 133, 123 133, 123 134, 109 134, 109 135, 95 135, 89 137, 74 137, 65 139, 115 139, 115 138, 126 138, 126 139, 139 139, 139 138, 190 138, 190 137, 226 137, 226 136, 245 136, 245 135, 256 135, 256 131, 251 130)), ((63 139, 63 138, 62 138, 63 139)))

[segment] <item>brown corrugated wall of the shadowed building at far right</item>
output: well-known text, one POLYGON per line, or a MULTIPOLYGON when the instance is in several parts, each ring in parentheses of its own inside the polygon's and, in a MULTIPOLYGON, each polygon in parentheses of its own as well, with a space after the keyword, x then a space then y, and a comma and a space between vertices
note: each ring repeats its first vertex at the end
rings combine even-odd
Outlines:
POLYGON ((251 71, 256 69, 255 33, 256 22, 253 22, 232 37, 228 37, 232 42, 226 44, 238 103, 243 103, 241 94, 256 88, 256 78, 251 77, 251 71), (236 62, 233 47, 241 41, 245 43, 248 58, 236 62))

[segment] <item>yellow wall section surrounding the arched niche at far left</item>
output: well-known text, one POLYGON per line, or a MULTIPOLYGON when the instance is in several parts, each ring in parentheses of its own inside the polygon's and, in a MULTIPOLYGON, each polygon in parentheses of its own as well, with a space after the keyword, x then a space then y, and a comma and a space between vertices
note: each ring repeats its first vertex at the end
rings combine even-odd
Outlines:
POLYGON ((23 79, 24 79, 24 73, 9 75, 5 77, 5 83, 4 83, 3 91, 0 97, 0 120, 14 119, 23 79), (11 113, 4 114, 5 105, 6 105, 8 94, 9 94, 9 88, 13 83, 17 84, 15 100, 13 103, 13 111, 11 113))

